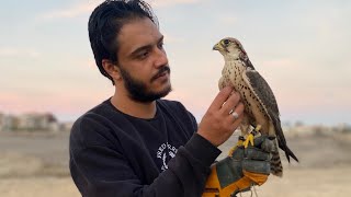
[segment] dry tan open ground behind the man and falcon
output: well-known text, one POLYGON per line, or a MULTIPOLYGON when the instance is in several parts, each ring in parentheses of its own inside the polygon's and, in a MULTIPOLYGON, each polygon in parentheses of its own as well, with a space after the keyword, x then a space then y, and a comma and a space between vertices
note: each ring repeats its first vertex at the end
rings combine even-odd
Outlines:
MULTIPOLYGON (((1 197, 78 197, 68 170, 69 132, 0 132, 1 197)), ((260 197, 348 197, 351 194, 351 135, 287 135, 301 160, 283 161, 284 176, 270 176, 260 197)), ((219 148, 224 158, 237 136, 219 148)), ((283 158, 283 154, 281 154, 283 158)), ((245 193, 241 196, 250 196, 245 193)), ((240 195, 238 195, 240 196, 240 195)), ((252 196, 256 196, 254 193, 252 196)))

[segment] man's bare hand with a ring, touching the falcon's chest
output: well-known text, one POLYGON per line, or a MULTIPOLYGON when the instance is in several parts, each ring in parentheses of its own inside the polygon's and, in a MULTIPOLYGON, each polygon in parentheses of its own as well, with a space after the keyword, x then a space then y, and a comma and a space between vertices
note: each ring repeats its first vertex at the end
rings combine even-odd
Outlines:
POLYGON ((233 88, 224 88, 202 118, 197 134, 218 147, 236 130, 242 120, 244 104, 233 88), (238 117, 233 116, 236 113, 238 117))

